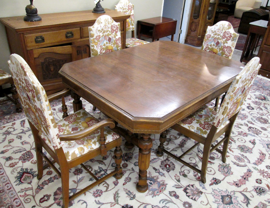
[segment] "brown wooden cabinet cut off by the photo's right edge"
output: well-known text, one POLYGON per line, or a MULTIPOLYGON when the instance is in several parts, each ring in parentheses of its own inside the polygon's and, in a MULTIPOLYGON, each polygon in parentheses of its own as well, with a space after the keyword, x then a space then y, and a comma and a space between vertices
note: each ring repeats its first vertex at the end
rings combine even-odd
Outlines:
POLYGON ((260 58, 261 69, 259 75, 270 78, 270 24, 268 22, 268 27, 264 35, 261 47, 258 52, 258 57, 260 58))

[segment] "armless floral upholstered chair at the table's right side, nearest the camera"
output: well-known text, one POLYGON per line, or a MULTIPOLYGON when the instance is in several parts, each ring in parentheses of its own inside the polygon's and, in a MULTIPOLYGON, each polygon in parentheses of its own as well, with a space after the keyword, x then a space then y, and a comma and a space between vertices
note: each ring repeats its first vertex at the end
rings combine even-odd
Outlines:
POLYGON ((223 103, 218 112, 204 106, 197 110, 195 113, 179 121, 177 124, 172 126, 172 129, 182 133, 183 135, 190 137, 197 141, 190 149, 183 154, 174 155, 171 152, 164 150, 163 143, 164 139, 160 138, 160 146, 158 147, 157 155, 162 156, 162 152, 168 154, 177 161, 183 163, 189 168, 201 174, 202 183, 206 182, 206 170, 209 160, 209 155, 213 150, 217 150, 221 154, 222 162, 226 162, 227 148, 230 140, 231 130, 237 114, 241 110, 243 102, 248 95, 251 85, 257 76, 258 70, 261 67, 260 58, 255 57, 251 59, 245 66, 244 69, 236 76, 232 82, 227 94, 224 98, 223 103), (219 142, 216 142, 220 136, 224 134, 224 138, 219 142), (185 162, 183 156, 190 152, 198 144, 203 144, 202 153, 202 166, 201 169, 185 162), (223 143, 222 150, 217 147, 223 143))

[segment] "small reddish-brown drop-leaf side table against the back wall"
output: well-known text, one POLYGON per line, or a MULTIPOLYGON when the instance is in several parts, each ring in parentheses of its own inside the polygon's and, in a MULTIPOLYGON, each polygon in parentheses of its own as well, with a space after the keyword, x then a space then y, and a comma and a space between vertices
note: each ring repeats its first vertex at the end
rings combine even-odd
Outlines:
POLYGON ((173 35, 176 31, 176 23, 176 19, 167 17, 153 17, 138 20, 138 38, 141 39, 142 35, 147 38, 152 38, 152 41, 155 41, 168 35, 172 35, 171 41, 173 41, 173 35))

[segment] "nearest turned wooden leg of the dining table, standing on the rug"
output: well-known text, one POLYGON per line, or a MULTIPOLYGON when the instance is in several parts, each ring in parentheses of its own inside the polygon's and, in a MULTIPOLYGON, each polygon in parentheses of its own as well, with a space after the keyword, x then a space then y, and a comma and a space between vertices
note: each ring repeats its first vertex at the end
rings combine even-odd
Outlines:
POLYGON ((150 156, 153 142, 150 138, 150 134, 142 134, 138 141, 139 146, 139 182, 137 183, 136 189, 139 192, 146 192, 148 189, 147 185, 147 169, 150 165, 150 156))

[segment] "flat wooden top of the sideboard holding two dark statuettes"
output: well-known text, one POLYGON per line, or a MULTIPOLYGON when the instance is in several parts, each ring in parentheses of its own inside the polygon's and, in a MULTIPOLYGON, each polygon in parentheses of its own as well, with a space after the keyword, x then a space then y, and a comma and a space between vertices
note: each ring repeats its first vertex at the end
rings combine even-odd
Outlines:
POLYGON ((112 9, 105 9, 105 13, 102 14, 92 13, 92 10, 39 14, 42 20, 36 22, 24 21, 24 16, 2 17, 0 18, 0 22, 6 27, 20 33, 48 29, 52 28, 53 25, 57 25, 57 28, 59 28, 60 25, 61 27, 78 25, 78 22, 80 22, 80 24, 89 24, 95 22, 99 16, 104 14, 109 15, 114 20, 123 19, 123 17, 127 19, 130 17, 129 14, 124 14, 112 9))

